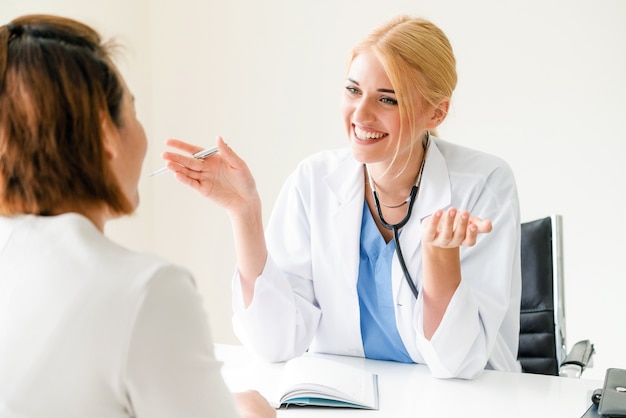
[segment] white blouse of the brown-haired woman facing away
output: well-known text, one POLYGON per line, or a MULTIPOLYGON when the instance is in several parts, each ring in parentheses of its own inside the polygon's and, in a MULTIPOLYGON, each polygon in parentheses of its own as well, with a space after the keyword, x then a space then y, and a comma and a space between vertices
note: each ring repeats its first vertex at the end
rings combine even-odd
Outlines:
POLYGON ((237 417, 190 274, 77 214, 0 217, 0 416, 237 417))

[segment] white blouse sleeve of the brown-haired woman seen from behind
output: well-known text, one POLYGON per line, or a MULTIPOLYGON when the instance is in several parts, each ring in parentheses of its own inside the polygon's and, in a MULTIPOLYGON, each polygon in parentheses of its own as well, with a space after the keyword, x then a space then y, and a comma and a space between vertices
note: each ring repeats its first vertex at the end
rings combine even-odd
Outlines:
POLYGON ((238 417, 193 279, 174 266, 150 280, 131 336, 126 383, 137 418, 238 417))

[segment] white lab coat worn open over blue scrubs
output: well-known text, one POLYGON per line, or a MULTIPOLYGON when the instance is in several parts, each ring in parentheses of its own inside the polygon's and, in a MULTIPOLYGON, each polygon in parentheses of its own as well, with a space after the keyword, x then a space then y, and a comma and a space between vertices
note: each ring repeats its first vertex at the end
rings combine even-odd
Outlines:
MULTIPOLYGON (((396 323, 416 363, 436 377, 473 378, 484 368, 520 371, 520 215, 509 166, 499 158, 431 137, 419 197, 400 245, 421 290, 420 221, 450 206, 491 219, 493 231, 461 249, 461 283, 431 340, 394 256, 396 323)), ((364 202, 363 165, 349 149, 313 155, 280 192, 266 229, 269 257, 252 303, 233 281, 234 325, 271 361, 306 350, 363 356, 357 279, 364 202)))

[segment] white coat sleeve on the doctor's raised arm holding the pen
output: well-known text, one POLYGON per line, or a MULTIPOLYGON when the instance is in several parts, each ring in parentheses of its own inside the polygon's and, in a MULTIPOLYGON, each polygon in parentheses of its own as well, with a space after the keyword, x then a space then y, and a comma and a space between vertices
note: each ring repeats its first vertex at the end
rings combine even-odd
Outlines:
POLYGON ((311 274, 310 209, 302 199, 299 175, 289 176, 274 204, 265 230, 267 260, 247 308, 238 272, 233 280, 235 333, 271 362, 302 355, 321 318, 311 274))

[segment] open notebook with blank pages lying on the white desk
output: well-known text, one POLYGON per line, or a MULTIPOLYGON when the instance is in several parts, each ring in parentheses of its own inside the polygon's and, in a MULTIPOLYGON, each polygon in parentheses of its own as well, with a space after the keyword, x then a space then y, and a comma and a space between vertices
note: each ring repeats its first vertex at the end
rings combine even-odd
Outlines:
POLYGON ((378 409, 378 375, 320 357, 289 360, 279 385, 281 407, 378 409))

